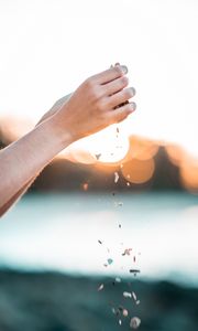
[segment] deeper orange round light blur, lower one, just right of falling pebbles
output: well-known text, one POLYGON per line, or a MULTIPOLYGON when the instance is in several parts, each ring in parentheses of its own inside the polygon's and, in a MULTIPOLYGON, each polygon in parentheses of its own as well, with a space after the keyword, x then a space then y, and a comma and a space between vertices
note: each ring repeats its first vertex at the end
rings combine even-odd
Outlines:
POLYGON ((134 184, 147 182, 153 177, 155 163, 153 159, 144 161, 132 159, 131 161, 123 163, 121 169, 127 181, 134 184))

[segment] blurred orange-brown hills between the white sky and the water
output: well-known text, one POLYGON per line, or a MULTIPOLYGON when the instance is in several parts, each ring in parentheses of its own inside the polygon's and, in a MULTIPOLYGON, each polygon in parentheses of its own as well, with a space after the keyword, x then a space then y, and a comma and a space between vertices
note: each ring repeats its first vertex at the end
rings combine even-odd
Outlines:
MULTIPOLYGON (((30 129, 31 125, 26 121, 1 119, 0 147, 8 146, 30 129)), ((188 156, 182 147, 136 136, 129 139, 129 151, 124 159, 117 163, 102 163, 99 156, 96 156, 92 162, 88 156, 84 156, 80 161, 74 154, 55 158, 30 191, 198 192, 198 161, 188 156)))

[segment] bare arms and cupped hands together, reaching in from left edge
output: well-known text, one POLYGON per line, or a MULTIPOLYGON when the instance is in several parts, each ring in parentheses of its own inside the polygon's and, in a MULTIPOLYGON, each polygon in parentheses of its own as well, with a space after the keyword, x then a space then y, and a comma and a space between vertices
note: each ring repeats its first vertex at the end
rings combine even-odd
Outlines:
POLYGON ((74 141, 125 119, 135 104, 125 66, 86 79, 47 111, 28 135, 0 151, 0 216, 26 191, 53 158, 74 141))

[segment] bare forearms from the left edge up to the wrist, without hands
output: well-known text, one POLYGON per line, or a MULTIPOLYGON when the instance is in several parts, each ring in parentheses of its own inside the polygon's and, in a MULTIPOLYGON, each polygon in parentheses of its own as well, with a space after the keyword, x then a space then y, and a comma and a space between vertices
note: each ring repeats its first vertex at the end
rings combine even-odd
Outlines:
POLYGON ((70 137, 57 131, 55 117, 0 152, 0 213, 9 209, 43 168, 66 146, 70 137))

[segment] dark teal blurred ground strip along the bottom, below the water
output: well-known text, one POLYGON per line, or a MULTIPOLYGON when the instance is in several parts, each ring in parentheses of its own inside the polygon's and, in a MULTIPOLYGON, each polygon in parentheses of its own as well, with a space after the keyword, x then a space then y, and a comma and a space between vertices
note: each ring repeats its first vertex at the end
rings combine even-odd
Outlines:
POLYGON ((112 308, 129 309, 141 318, 141 331, 196 331, 198 289, 166 281, 133 280, 141 303, 123 298, 129 280, 72 277, 55 273, 0 271, 1 331, 131 330, 129 317, 119 325, 112 308), (103 282, 105 288, 98 291, 103 282))

